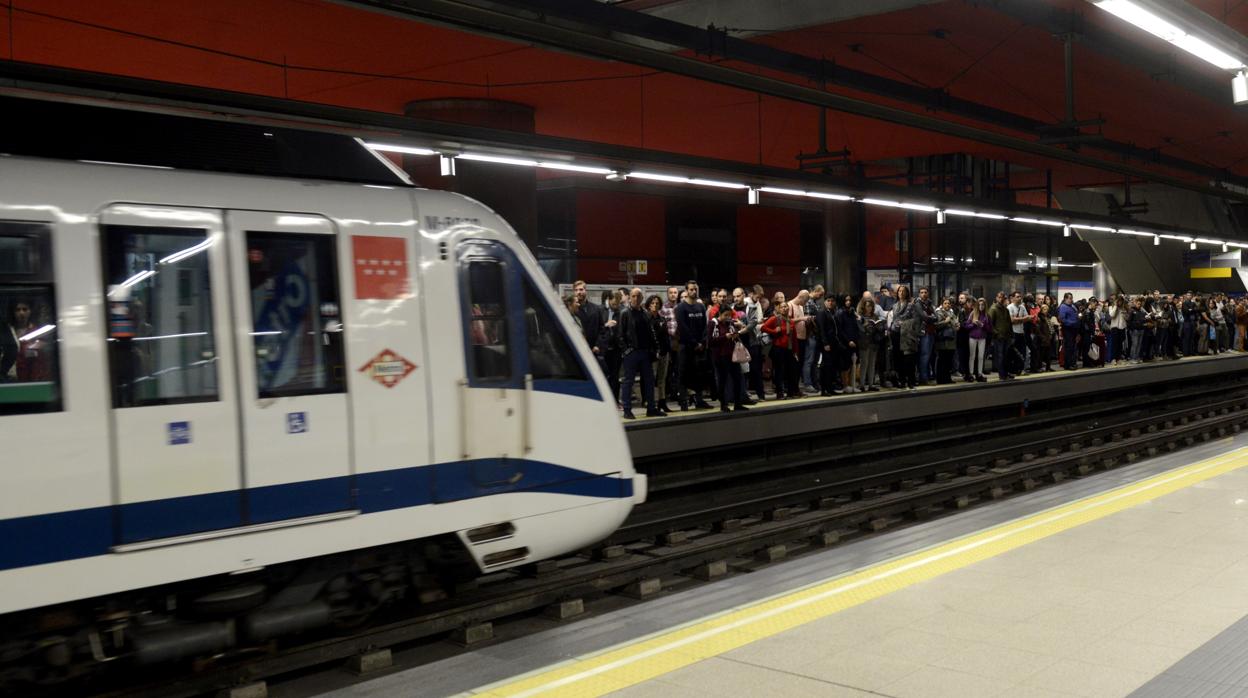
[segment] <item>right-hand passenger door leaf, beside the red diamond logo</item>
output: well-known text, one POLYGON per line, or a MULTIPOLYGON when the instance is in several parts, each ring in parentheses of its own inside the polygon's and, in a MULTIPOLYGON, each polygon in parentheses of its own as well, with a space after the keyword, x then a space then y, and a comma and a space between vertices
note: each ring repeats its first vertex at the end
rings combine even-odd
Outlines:
POLYGON ((306 214, 227 221, 247 522, 349 509, 337 230, 306 214))

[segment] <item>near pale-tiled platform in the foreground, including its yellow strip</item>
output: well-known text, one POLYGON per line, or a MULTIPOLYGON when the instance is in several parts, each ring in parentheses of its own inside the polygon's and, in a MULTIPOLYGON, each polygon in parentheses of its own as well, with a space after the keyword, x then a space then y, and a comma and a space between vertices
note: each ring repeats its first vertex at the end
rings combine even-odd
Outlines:
POLYGON ((334 696, 1248 694, 1248 435, 334 696))

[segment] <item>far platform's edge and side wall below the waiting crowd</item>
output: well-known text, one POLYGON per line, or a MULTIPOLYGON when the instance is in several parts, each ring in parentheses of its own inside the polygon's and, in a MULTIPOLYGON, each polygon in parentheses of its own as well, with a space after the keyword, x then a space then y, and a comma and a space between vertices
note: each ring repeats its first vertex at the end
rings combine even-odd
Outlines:
POLYGON ((931 415, 968 412, 980 415, 1008 410, 1042 407, 1046 402, 1073 405, 1116 391, 1187 380, 1232 376, 1248 371, 1248 352, 1193 356, 1177 361, 1056 370, 1020 376, 1012 381, 996 377, 987 383, 956 382, 921 386, 916 391, 879 392, 802 397, 765 401, 748 412, 724 413, 719 410, 674 412, 668 417, 638 418, 625 423, 634 461, 668 456, 675 451, 693 452, 721 448, 731 435, 734 443, 795 437, 900 422, 931 415), (711 428, 708 428, 711 427, 711 428))

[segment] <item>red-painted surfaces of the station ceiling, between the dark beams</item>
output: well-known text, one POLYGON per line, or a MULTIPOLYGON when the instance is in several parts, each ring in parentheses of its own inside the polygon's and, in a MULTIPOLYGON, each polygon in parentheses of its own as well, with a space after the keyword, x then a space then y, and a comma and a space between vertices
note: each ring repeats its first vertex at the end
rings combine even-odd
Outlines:
MULTIPOLYGON (((1090 21, 1113 19, 1082 1, 1055 4, 1090 21)), ((1202 2, 1207 11, 1211 5, 1202 2)), ((1248 19, 1238 7, 1228 16, 1248 19)), ((45 0, 15 6, 12 19, 10 27, 0 14, 0 31, 24 61, 392 112, 421 99, 498 97, 533 105, 542 134, 784 167, 815 147, 814 107, 332 2, 45 0)), ((976 4, 920 5, 759 40, 1036 119, 1053 121, 1065 109, 1061 45, 976 4), (931 36, 935 29, 947 36, 931 36)), ((1229 104, 1209 104, 1082 46, 1076 65, 1078 116, 1104 116, 1107 135, 1248 172, 1248 129, 1229 104)), ((961 151, 1053 167, 1057 186, 1112 179, 836 112, 829 145, 864 161, 961 151)))

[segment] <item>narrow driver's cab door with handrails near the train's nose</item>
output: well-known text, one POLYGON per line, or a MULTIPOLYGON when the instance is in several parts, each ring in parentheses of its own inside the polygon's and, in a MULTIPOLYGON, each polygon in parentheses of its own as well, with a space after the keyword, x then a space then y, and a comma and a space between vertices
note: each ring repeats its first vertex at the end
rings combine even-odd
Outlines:
MULTIPOLYGON (((520 268, 502 245, 473 240, 458 250, 467 377, 462 383, 463 457, 479 471, 473 489, 523 477, 527 366, 520 268)), ((438 483, 448 496, 447 482, 438 483)))

